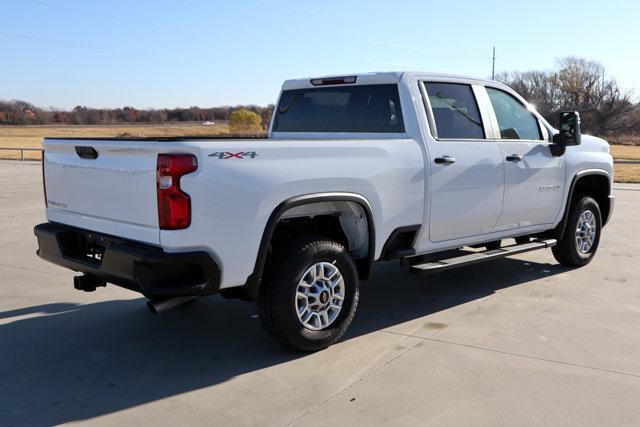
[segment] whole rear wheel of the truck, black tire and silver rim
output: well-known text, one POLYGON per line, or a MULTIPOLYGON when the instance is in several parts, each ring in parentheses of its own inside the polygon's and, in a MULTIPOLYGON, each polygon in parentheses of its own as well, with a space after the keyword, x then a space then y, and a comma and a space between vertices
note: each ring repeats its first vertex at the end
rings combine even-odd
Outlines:
POLYGON ((338 341, 358 304, 358 274, 351 254, 321 238, 294 242, 260 290, 258 312, 271 337, 304 352, 338 341))

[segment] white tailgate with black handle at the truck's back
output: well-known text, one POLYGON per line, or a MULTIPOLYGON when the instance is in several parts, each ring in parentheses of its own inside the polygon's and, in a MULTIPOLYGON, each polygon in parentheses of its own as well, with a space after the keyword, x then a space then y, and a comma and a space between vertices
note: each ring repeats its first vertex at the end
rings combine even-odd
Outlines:
POLYGON ((159 244, 154 141, 45 139, 43 146, 49 221, 159 244))

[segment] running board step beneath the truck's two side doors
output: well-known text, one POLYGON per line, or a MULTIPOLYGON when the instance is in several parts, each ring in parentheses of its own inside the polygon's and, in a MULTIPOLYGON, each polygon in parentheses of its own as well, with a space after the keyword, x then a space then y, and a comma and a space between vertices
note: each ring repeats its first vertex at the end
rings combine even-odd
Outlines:
POLYGON ((556 239, 534 240, 532 242, 523 243, 521 245, 505 246, 500 249, 493 249, 484 252, 475 252, 468 255, 462 255, 455 258, 442 259, 439 261, 425 262, 411 266, 413 272, 425 271, 442 271, 450 268, 462 267, 464 265, 477 264, 480 262, 491 261, 498 258, 504 258, 510 255, 521 254, 524 252, 537 251, 538 249, 546 249, 558 243, 556 239))

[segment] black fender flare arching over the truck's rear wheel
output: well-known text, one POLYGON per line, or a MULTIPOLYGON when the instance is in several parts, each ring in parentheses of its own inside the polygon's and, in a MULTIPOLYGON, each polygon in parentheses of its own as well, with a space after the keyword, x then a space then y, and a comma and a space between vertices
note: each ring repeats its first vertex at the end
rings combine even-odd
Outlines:
POLYGON ((260 240, 260 247, 258 248, 258 255, 256 257, 256 262, 253 267, 253 272, 247 278, 247 281, 244 288, 243 299, 248 300, 256 300, 258 298, 258 294, 260 292, 260 285, 262 284, 262 276, 264 273, 265 264, 267 261, 267 255, 269 252, 269 244, 271 242, 271 238, 273 237, 273 233, 278 225, 278 221, 282 215, 288 211, 289 209, 295 208, 297 206, 308 205, 311 203, 318 202, 354 202, 360 205, 367 217, 367 231, 369 234, 369 244, 367 250, 367 257, 360 260, 358 265, 358 273, 360 278, 366 280, 369 277, 371 272, 371 266, 373 265, 373 260, 375 257, 375 248, 376 248, 376 235, 375 235, 375 225, 373 222, 373 213, 371 210, 371 205, 367 201, 367 199, 359 194, 355 193, 340 193, 340 192, 329 192, 329 193, 313 193, 313 194, 305 194, 301 196, 291 197, 282 203, 280 203, 269 215, 269 219, 265 225, 264 231, 262 233, 262 239, 260 240))

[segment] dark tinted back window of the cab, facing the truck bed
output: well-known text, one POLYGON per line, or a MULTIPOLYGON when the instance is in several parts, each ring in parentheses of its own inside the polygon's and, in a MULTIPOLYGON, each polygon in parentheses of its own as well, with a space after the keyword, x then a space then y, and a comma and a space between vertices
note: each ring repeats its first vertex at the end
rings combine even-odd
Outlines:
POLYGON ((395 84, 286 90, 274 132, 403 133, 395 84))

